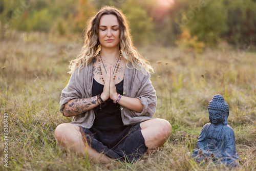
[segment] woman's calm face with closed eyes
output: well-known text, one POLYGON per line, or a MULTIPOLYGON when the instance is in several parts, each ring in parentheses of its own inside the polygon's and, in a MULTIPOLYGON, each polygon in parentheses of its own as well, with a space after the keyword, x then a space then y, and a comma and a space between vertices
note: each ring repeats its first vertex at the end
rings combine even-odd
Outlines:
POLYGON ((116 48, 119 45, 119 23, 115 15, 103 15, 99 22, 101 48, 116 48))

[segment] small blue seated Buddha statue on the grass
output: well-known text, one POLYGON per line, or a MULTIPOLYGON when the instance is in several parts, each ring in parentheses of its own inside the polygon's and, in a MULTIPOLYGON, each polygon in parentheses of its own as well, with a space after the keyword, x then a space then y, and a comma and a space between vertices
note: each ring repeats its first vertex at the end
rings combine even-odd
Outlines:
POLYGON ((234 131, 227 123, 229 108, 220 94, 215 95, 208 104, 210 123, 203 126, 192 157, 198 162, 212 160, 236 167, 240 157, 236 151, 234 131))

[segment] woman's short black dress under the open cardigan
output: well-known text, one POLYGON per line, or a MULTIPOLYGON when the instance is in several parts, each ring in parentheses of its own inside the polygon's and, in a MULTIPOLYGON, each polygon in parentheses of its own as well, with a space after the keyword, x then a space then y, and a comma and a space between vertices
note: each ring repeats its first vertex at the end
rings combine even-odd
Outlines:
MULTIPOLYGON (((123 93, 123 80, 115 85, 117 93, 123 93)), ((103 85, 93 79, 92 96, 103 92, 103 85)), ((147 151, 141 134, 140 123, 123 125, 120 105, 108 99, 93 109, 95 120, 90 129, 81 128, 85 140, 97 152, 120 161, 137 161, 147 151)))

